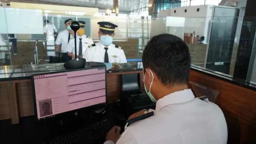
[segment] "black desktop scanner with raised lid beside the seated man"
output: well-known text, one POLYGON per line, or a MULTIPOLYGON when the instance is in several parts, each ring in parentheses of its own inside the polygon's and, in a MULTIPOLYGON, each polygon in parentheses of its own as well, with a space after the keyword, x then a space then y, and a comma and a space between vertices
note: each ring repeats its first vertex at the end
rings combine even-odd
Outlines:
POLYGON ((156 108, 156 103, 140 90, 140 73, 121 75, 120 80, 120 106, 126 111, 127 116, 142 109, 156 108))

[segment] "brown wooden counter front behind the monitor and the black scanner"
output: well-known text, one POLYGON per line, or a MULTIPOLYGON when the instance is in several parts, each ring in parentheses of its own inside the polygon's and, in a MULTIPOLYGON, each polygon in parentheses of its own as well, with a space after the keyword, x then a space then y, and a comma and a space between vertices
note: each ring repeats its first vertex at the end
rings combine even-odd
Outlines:
MULTIPOLYGON (((107 103, 117 102, 120 96, 120 75, 140 73, 142 71, 107 73, 107 103)), ((141 78, 141 89, 144 84, 141 78)), ((13 80, 0 82, 0 120, 12 119, 12 124, 19 123, 19 117, 33 116, 34 105, 31 80, 13 80)))

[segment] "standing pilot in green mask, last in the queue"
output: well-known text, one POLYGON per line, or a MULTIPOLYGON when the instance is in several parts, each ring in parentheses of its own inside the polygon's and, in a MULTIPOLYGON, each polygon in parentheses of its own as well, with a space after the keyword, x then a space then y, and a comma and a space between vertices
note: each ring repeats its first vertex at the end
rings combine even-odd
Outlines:
POLYGON ((68 52, 67 52, 68 42, 74 36, 74 31, 70 27, 70 23, 72 21, 73 21, 72 19, 67 19, 64 22, 66 30, 59 32, 57 39, 55 41, 56 52, 59 52, 59 53, 61 52, 63 63, 66 63, 68 60, 72 59, 71 57, 68 56, 68 52))

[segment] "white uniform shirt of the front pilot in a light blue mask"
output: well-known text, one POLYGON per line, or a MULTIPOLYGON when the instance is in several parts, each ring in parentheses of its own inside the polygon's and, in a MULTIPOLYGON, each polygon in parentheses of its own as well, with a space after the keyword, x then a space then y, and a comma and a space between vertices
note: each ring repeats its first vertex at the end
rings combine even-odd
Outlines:
MULTIPOLYGON (((108 60, 109 63, 127 63, 125 53, 123 52, 122 48, 120 46, 117 46, 114 44, 110 44, 108 46, 108 60)), ((95 46, 92 46, 90 48, 87 48, 84 54, 84 58, 86 59, 86 62, 102 62, 104 63, 104 57, 105 57, 105 46, 101 44, 100 42, 95 43, 95 46)))

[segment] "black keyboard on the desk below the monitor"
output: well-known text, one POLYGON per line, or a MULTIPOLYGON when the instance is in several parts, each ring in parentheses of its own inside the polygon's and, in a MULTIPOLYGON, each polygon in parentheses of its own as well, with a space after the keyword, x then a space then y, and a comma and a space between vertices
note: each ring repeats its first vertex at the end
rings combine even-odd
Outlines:
POLYGON ((110 122, 103 120, 40 144, 90 144, 98 139, 105 138, 112 127, 113 125, 110 122))

